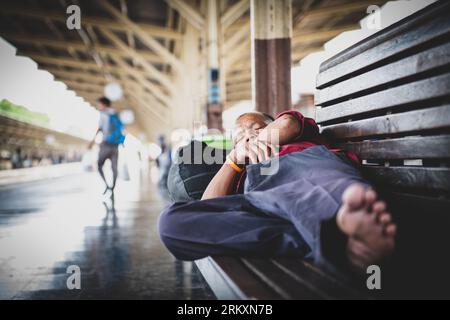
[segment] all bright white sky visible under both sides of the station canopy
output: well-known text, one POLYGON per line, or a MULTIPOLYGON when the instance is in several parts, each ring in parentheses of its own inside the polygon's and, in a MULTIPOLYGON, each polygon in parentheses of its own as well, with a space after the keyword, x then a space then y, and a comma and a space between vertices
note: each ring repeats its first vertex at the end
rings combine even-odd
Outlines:
MULTIPOLYGON (((435 0, 393 1, 381 10, 381 24, 386 27, 435 0)), ((315 92, 315 79, 320 63, 377 30, 367 29, 367 18, 361 29, 345 32, 325 44, 324 51, 305 57, 292 68, 292 99, 297 101, 302 93, 315 92)), ((47 71, 37 69, 29 58, 16 56, 16 49, 0 38, 0 100, 8 99, 31 111, 46 113, 50 126, 56 130, 91 138, 98 123, 98 113, 89 103, 68 90, 66 85, 54 81, 47 71)), ((251 110, 251 102, 242 102, 224 114, 224 127, 228 128, 237 115, 251 110)))

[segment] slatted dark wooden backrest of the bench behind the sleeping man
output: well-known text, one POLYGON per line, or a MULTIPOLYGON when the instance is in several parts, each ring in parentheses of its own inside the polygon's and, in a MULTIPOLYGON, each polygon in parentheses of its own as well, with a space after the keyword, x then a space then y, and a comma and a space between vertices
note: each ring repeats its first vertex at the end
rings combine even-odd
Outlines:
POLYGON ((401 221, 404 247, 448 262, 450 1, 325 61, 317 88, 322 133, 359 155, 401 221))

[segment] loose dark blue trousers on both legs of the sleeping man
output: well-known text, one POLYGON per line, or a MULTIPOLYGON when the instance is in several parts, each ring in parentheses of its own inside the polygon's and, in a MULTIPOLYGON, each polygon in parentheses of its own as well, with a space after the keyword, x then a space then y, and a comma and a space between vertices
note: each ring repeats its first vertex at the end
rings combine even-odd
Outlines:
POLYGON ((321 263, 324 226, 337 229, 343 192, 355 182, 368 183, 323 146, 275 161, 279 170, 272 175, 261 175, 271 162, 247 166, 244 194, 176 203, 163 211, 159 232, 169 251, 181 260, 295 256, 321 263))

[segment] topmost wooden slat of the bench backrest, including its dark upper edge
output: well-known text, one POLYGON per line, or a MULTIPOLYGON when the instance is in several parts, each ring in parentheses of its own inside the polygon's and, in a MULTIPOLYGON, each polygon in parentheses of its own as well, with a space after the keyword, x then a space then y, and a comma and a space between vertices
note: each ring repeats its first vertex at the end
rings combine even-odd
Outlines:
POLYGON ((322 89, 339 79, 350 78, 357 72, 392 61, 394 56, 414 50, 448 33, 450 3, 439 1, 322 63, 317 87, 322 89))

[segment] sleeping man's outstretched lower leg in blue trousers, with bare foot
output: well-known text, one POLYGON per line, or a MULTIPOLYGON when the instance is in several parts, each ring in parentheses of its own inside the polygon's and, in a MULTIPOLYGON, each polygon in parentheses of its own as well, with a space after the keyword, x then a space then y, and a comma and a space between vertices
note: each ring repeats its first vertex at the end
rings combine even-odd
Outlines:
POLYGON ((245 197, 267 215, 292 222, 314 261, 331 269, 363 270, 383 262, 394 249, 391 215, 363 180, 311 176, 245 197))

